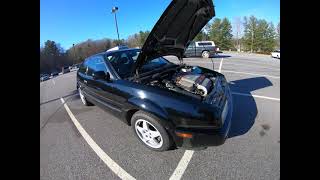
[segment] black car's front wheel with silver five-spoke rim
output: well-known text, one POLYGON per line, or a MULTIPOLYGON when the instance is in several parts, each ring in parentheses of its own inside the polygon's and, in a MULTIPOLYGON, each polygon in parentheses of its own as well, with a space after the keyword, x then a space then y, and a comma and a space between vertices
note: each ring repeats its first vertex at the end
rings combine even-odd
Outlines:
POLYGON ((131 118, 131 127, 139 141, 153 151, 167 151, 173 145, 171 136, 160 120, 149 113, 136 112, 131 118))

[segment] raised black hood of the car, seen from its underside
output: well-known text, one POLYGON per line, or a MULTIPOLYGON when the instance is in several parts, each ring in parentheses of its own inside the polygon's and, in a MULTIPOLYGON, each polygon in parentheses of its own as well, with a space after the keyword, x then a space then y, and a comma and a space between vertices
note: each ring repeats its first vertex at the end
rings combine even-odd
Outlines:
POLYGON ((133 72, 160 56, 181 59, 190 41, 214 15, 212 0, 173 0, 143 44, 133 72))

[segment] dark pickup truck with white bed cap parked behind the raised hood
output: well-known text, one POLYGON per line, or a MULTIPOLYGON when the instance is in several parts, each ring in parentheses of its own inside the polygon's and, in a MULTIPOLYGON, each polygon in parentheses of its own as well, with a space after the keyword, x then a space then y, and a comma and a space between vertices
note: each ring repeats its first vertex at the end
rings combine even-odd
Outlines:
POLYGON ((195 41, 190 42, 186 51, 184 52, 185 57, 200 56, 203 58, 212 57, 217 53, 219 49, 216 48, 213 41, 195 41))

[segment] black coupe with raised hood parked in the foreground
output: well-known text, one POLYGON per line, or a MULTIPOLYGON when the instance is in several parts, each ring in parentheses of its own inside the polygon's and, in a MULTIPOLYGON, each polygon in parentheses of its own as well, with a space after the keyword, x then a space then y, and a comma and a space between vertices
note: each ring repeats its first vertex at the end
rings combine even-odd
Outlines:
POLYGON ((142 49, 84 60, 77 72, 81 101, 119 117, 152 150, 223 144, 233 106, 228 83, 224 75, 185 65, 182 58, 213 16, 211 0, 172 1, 142 49), (181 63, 171 63, 165 55, 175 55, 181 63))

